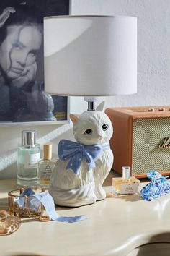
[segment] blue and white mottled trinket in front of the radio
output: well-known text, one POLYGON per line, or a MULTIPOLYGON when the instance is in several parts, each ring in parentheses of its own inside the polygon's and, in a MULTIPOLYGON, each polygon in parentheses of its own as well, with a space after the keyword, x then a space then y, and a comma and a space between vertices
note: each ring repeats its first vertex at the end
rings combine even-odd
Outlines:
POLYGON ((147 177, 151 182, 140 191, 144 200, 151 201, 170 192, 170 182, 167 179, 169 176, 162 176, 158 171, 150 171, 147 177))

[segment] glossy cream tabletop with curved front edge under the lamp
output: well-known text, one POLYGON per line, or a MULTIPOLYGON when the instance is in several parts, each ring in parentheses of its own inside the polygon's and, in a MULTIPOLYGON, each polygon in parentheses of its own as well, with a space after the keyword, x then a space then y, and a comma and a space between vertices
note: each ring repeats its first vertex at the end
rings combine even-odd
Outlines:
MULTIPOLYGON (((112 174, 104 183, 110 191, 112 174)), ((145 183, 141 184, 143 187, 145 183)), ((7 192, 15 181, 0 182, 0 208, 6 209, 7 192)), ((85 215, 76 223, 22 220, 9 236, 0 236, 0 255, 124 256, 148 242, 170 242, 170 194, 151 202, 140 195, 108 197, 80 208, 56 208, 62 216, 85 215)))

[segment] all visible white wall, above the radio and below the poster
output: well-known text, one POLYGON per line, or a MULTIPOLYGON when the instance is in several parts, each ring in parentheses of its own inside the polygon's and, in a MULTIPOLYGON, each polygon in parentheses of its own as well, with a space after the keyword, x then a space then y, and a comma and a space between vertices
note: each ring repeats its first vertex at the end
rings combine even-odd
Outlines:
MULTIPOLYGON (((106 106, 169 105, 170 93, 170 1, 169 0, 72 0, 72 14, 130 15, 138 17, 138 93, 104 98, 106 106)), ((99 99, 99 101, 102 99, 99 99)), ((71 111, 86 109, 82 98, 71 98, 71 111)), ((0 179, 16 175, 16 149, 22 129, 36 129, 38 141, 53 143, 73 139, 68 124, 62 127, 0 126, 0 179), (58 135, 58 132, 60 135, 58 135)))

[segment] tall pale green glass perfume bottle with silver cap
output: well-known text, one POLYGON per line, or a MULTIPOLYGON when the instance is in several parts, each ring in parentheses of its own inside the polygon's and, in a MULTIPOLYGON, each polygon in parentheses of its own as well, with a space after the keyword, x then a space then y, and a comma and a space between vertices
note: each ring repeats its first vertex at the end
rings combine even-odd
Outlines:
POLYGON ((35 136, 35 131, 22 131, 22 144, 17 149, 17 184, 19 185, 37 185, 40 145, 36 143, 35 136))

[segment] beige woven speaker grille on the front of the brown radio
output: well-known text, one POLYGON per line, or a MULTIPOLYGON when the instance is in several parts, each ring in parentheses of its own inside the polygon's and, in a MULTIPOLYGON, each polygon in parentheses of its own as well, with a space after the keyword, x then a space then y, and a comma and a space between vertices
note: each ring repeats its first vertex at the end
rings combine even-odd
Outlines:
POLYGON ((170 148, 159 148, 170 136, 170 119, 133 119, 133 174, 170 170, 170 148))

